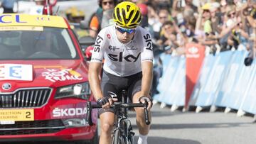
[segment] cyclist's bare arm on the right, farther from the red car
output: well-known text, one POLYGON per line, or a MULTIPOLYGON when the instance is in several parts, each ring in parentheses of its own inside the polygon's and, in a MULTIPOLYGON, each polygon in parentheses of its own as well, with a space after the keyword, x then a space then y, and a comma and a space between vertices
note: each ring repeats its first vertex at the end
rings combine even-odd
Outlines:
POLYGON ((142 62, 142 96, 149 96, 153 79, 153 62, 142 62))

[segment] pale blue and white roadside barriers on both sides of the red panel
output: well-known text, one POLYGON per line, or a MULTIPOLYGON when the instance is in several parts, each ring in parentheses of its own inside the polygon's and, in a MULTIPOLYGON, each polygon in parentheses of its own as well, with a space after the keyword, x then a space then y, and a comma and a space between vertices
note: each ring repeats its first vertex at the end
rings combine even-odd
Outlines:
MULTIPOLYGON (((246 67, 246 50, 207 55, 193 89, 188 106, 216 106, 256 114, 256 62, 246 67)), ((159 94, 154 101, 184 106, 186 74, 185 57, 161 54, 165 71, 159 80, 159 94)))

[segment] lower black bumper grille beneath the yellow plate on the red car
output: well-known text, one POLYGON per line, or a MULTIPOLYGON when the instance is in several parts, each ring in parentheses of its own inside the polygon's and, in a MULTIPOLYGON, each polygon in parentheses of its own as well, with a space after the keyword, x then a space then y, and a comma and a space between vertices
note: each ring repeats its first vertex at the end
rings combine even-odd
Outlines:
POLYGON ((46 121, 16 121, 15 125, 0 125, 0 135, 31 135, 56 133, 65 128, 59 119, 46 121))

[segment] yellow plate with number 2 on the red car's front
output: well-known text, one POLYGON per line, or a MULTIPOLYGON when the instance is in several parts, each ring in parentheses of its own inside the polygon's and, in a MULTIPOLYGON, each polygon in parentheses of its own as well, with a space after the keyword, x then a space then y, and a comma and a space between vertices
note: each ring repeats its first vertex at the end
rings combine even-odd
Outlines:
POLYGON ((34 121, 34 110, 0 109, 0 121, 34 121))

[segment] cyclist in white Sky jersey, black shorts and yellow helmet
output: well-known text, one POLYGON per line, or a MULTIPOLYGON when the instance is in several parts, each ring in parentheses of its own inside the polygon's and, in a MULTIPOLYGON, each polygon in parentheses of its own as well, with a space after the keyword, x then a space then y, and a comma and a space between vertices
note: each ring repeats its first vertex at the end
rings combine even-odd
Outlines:
MULTIPOLYGON (((89 68, 89 82, 99 110, 101 133, 100 143, 111 143, 114 111, 110 105, 121 100, 121 90, 127 89, 132 102, 149 103, 152 106, 150 89, 153 77, 153 48, 151 35, 139 26, 142 13, 139 7, 123 1, 114 8, 114 25, 103 28, 97 35, 89 68), (103 74, 98 77, 102 60, 103 74)), ((142 108, 135 109, 139 128, 139 144, 145 144, 150 126, 144 122, 142 108)), ((150 114, 149 114, 150 115, 150 114)), ((150 117, 150 116, 149 116, 150 117)), ((151 117, 149 118, 151 119, 151 117)))

